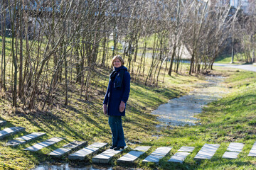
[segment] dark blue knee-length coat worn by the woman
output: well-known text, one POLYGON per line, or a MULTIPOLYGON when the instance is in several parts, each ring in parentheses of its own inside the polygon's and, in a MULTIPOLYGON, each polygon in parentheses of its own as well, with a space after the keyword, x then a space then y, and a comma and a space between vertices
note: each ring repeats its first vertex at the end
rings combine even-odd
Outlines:
POLYGON ((129 72, 127 72, 127 67, 124 67, 124 66, 114 68, 113 72, 117 72, 117 74, 115 74, 116 76, 113 77, 112 79, 110 77, 110 81, 107 86, 107 93, 105 94, 103 104, 107 104, 107 115, 124 116, 125 109, 123 112, 119 112, 119 106, 120 106, 121 101, 124 101, 125 105, 127 103, 127 100, 129 98, 131 77, 130 77, 129 72), (114 88, 114 82, 115 82, 114 80, 116 78, 117 79, 119 78, 119 77, 117 77, 117 75, 121 69, 124 70, 121 87, 114 88))

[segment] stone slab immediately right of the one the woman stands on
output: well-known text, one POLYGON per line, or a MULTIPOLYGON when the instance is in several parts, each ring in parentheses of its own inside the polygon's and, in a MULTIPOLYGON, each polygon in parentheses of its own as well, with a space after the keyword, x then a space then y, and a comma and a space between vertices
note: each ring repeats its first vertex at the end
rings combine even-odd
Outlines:
POLYGON ((134 161, 144 154, 149 148, 150 147, 136 147, 133 151, 117 159, 117 162, 134 163, 134 161))

